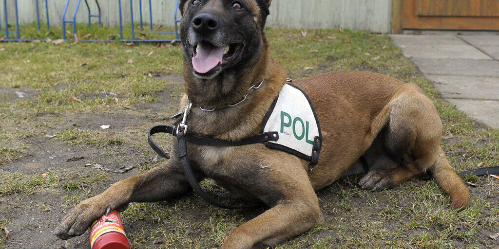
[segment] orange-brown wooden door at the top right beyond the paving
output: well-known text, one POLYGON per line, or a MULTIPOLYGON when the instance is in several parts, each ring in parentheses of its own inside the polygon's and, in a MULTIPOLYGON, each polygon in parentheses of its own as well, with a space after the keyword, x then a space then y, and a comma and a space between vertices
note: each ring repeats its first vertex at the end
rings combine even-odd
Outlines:
POLYGON ((499 0, 393 0, 402 29, 499 30, 499 0))

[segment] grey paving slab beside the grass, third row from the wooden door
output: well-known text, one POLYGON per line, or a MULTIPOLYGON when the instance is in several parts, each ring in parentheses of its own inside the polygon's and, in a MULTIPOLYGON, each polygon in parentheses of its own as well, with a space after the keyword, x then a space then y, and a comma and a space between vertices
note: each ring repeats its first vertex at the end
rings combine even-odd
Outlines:
POLYGON ((412 61, 424 74, 499 77, 496 60, 413 58, 412 61))

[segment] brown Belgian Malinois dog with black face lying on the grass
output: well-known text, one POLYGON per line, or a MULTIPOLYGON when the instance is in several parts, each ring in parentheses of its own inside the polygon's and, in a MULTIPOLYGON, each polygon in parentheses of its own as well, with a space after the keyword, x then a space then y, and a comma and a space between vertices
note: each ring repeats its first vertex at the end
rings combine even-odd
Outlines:
MULTIPOLYGON (((264 31, 271 0, 182 0, 180 34, 186 95, 194 104, 188 133, 238 141, 257 134, 286 82, 270 55, 264 31), (260 82, 246 101, 248 89, 260 82)), ((311 99, 322 128, 319 163, 261 143, 214 147, 188 143, 198 180, 215 179, 235 196, 269 209, 234 230, 223 249, 275 246, 324 221, 315 190, 338 180, 367 159, 362 188, 391 188, 426 172, 449 194, 454 209, 468 205, 469 192, 440 146, 442 123, 432 101, 416 85, 370 72, 331 72, 293 80, 311 99), (261 167, 269 165, 269 167, 261 167)), ((100 216, 130 202, 176 198, 190 190, 178 147, 162 166, 119 181, 82 201, 54 234, 83 234, 100 216)))

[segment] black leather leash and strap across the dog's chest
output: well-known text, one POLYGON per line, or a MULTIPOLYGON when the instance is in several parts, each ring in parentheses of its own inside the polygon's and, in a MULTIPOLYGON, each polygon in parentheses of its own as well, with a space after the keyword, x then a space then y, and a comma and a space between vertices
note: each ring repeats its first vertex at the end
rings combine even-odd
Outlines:
POLYGON ((185 134, 185 130, 183 131, 178 131, 177 127, 171 126, 171 125, 157 125, 149 129, 149 132, 147 134, 147 141, 149 143, 149 146, 158 153, 158 155, 165 157, 167 159, 170 159, 170 156, 156 144, 153 139, 152 135, 156 133, 169 133, 177 137, 178 143, 179 143, 179 158, 180 158, 180 165, 182 167, 182 170, 184 171, 184 174, 187 178, 187 181, 193 188, 193 190, 201 197, 203 200, 206 202, 217 206, 219 208, 226 208, 226 209, 244 209, 244 208, 253 208, 260 206, 260 204, 251 204, 251 205, 246 205, 246 206, 239 206, 239 207, 234 207, 230 206, 221 202, 216 201, 215 199, 211 198, 204 190, 199 186, 198 180, 196 179, 194 172, 191 168, 191 164, 189 163, 189 157, 187 156, 187 141, 200 144, 200 145, 208 145, 208 146, 219 146, 219 147, 227 147, 227 146, 241 146, 241 145, 248 145, 248 144, 253 144, 253 143, 259 143, 259 142, 266 142, 266 141, 276 141, 279 139, 279 135, 277 132, 263 132, 259 133, 253 136, 250 136, 246 139, 243 139, 241 141, 228 141, 228 140, 222 140, 218 138, 211 138, 211 137, 201 137, 201 136, 196 136, 193 134, 185 134))

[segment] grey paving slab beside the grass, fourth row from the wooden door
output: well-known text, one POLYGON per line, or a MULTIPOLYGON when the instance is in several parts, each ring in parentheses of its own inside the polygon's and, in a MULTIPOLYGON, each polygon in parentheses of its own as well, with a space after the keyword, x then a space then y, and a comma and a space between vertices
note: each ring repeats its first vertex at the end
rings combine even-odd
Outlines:
POLYGON ((499 101, 499 78, 432 74, 425 77, 435 82, 444 98, 499 101))

